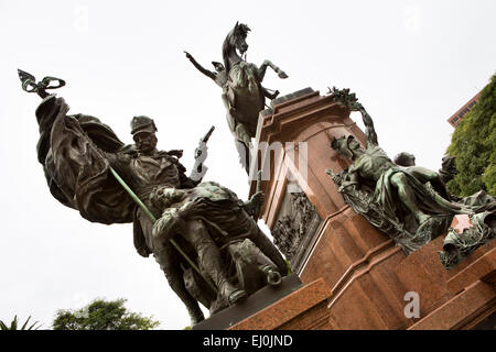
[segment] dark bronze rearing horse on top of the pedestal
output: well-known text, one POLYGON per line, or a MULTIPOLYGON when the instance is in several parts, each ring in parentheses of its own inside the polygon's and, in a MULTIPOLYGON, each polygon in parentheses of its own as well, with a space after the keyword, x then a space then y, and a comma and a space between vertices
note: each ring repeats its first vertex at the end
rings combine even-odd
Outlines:
POLYGON ((288 78, 283 70, 268 59, 258 68, 242 58, 248 50, 246 37, 249 31, 248 25, 236 22, 223 44, 223 59, 227 73, 223 99, 227 108, 227 122, 235 136, 240 162, 245 164, 248 174, 251 139, 257 131, 258 114, 265 109, 266 97, 274 99, 279 95, 279 91, 269 94, 261 86, 267 67, 270 66, 280 78, 288 78))

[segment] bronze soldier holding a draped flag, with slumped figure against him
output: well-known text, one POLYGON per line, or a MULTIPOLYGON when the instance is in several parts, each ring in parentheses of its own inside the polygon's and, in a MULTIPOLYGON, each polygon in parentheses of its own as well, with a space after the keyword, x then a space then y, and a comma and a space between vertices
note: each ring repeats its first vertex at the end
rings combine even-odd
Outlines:
POLYGON ((205 143, 213 129, 201 140, 193 173, 186 176, 179 161, 182 151, 157 150, 152 119, 134 117, 136 144, 125 145, 97 118, 69 116, 63 98, 46 94, 52 80, 60 82, 53 88, 63 86, 63 80, 47 77, 36 84, 32 75, 19 75, 24 90, 43 98, 36 109, 37 156, 52 195, 91 222, 133 222, 138 253, 153 254, 192 323, 204 319, 198 301, 212 314, 252 293, 252 285, 240 285, 249 278, 239 278, 238 272, 238 280, 233 280, 228 270, 233 265, 226 263, 239 256, 235 255, 239 243, 248 241, 259 249, 257 254, 244 253, 256 257, 251 262, 266 284, 280 283, 285 262, 249 215, 263 197, 244 202, 216 183, 202 183, 205 143))

